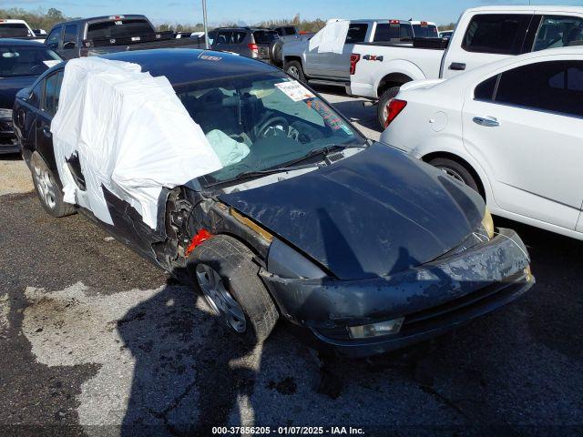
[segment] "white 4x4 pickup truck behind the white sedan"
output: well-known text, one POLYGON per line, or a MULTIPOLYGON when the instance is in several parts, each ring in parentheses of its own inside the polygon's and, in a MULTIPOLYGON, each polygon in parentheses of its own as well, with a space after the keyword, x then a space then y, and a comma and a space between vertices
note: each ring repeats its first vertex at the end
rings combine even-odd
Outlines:
POLYGON ((449 40, 431 47, 364 43, 353 46, 348 94, 378 100, 384 127, 387 105, 412 80, 441 79, 523 53, 583 44, 583 7, 486 6, 467 9, 449 40))

